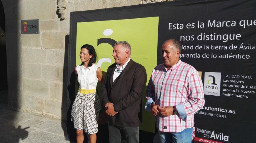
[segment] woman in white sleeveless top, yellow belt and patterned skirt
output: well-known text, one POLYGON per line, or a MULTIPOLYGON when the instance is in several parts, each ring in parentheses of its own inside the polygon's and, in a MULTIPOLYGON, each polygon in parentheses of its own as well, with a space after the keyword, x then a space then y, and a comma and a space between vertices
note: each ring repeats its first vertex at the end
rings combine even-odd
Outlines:
POLYGON ((79 90, 72 106, 71 120, 76 129, 76 141, 84 140, 83 130, 89 135, 90 143, 96 143, 100 102, 96 93, 97 82, 102 80, 102 72, 95 65, 96 52, 93 46, 85 44, 81 47, 80 59, 82 64, 75 67, 79 90))

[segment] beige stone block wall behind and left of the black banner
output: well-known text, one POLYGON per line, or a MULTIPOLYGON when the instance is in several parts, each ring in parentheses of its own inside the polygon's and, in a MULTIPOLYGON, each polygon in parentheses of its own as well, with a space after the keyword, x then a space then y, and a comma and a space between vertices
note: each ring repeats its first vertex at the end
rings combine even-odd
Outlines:
POLYGON ((141 0, 1 0, 6 19, 8 105, 66 119, 69 12, 140 4, 141 0), (20 20, 39 19, 40 34, 21 34, 20 20))

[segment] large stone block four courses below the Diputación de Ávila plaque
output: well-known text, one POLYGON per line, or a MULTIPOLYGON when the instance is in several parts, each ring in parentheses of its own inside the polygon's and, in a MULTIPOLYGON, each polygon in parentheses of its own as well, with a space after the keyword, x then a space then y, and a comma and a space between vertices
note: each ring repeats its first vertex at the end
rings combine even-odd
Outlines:
POLYGON ((36 97, 49 97, 49 85, 47 82, 41 80, 24 78, 23 91, 25 92, 25 94, 29 94, 36 97))

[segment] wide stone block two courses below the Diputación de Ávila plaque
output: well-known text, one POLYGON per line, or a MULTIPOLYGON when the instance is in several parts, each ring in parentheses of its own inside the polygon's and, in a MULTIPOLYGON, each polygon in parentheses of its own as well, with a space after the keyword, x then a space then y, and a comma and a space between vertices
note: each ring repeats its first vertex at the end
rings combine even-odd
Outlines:
POLYGON ((21 54, 22 62, 25 63, 46 63, 46 51, 44 49, 31 49, 25 48, 22 49, 21 54))

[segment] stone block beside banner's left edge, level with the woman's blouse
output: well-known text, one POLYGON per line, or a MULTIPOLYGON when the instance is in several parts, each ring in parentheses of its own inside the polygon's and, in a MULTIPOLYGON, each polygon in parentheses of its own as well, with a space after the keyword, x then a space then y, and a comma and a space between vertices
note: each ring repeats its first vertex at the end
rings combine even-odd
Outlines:
POLYGON ((63 82, 63 67, 43 65, 43 80, 63 82))

